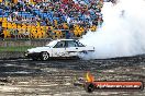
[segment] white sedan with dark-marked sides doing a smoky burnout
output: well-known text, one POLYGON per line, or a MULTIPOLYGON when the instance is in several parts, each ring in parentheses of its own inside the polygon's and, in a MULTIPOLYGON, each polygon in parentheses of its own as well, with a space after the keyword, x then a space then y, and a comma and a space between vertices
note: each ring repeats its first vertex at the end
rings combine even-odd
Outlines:
POLYGON ((75 39, 57 39, 44 47, 27 49, 25 57, 33 60, 48 60, 57 57, 79 57, 80 53, 94 51, 94 47, 85 46, 75 39))

